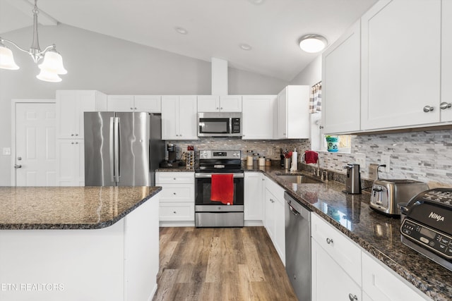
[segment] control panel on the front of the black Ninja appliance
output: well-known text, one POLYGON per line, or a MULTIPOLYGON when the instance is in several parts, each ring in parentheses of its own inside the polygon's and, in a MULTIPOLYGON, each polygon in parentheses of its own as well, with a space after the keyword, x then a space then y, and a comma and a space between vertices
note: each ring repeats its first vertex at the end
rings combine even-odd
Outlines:
POLYGON ((403 220, 400 232, 406 238, 417 242, 428 250, 446 259, 452 259, 452 237, 435 229, 423 226, 408 218, 403 220))

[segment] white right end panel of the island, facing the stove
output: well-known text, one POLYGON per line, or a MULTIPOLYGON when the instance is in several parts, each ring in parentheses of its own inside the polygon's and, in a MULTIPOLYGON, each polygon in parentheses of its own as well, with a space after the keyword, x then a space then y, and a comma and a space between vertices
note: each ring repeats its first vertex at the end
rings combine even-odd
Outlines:
POLYGON ((159 199, 153 196, 125 218, 124 300, 152 300, 159 270, 159 199))

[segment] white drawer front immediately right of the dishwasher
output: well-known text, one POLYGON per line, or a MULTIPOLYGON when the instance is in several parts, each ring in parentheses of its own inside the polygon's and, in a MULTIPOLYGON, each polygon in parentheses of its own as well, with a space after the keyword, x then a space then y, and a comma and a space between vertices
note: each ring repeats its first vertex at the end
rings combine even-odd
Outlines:
POLYGON ((361 286, 361 250, 321 217, 311 214, 311 236, 361 286))

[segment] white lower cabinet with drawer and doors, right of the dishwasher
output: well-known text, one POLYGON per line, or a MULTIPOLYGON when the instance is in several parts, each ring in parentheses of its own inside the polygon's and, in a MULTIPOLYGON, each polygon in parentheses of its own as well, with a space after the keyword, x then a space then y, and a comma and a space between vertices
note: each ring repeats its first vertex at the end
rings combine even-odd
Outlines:
POLYGON ((311 214, 312 300, 431 300, 336 228, 311 214))

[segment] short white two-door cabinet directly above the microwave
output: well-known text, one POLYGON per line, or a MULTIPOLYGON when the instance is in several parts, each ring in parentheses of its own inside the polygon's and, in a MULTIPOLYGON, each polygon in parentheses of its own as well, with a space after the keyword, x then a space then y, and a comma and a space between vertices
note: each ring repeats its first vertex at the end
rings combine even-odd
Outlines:
POLYGON ((198 112, 241 112, 240 95, 198 95, 198 112))

